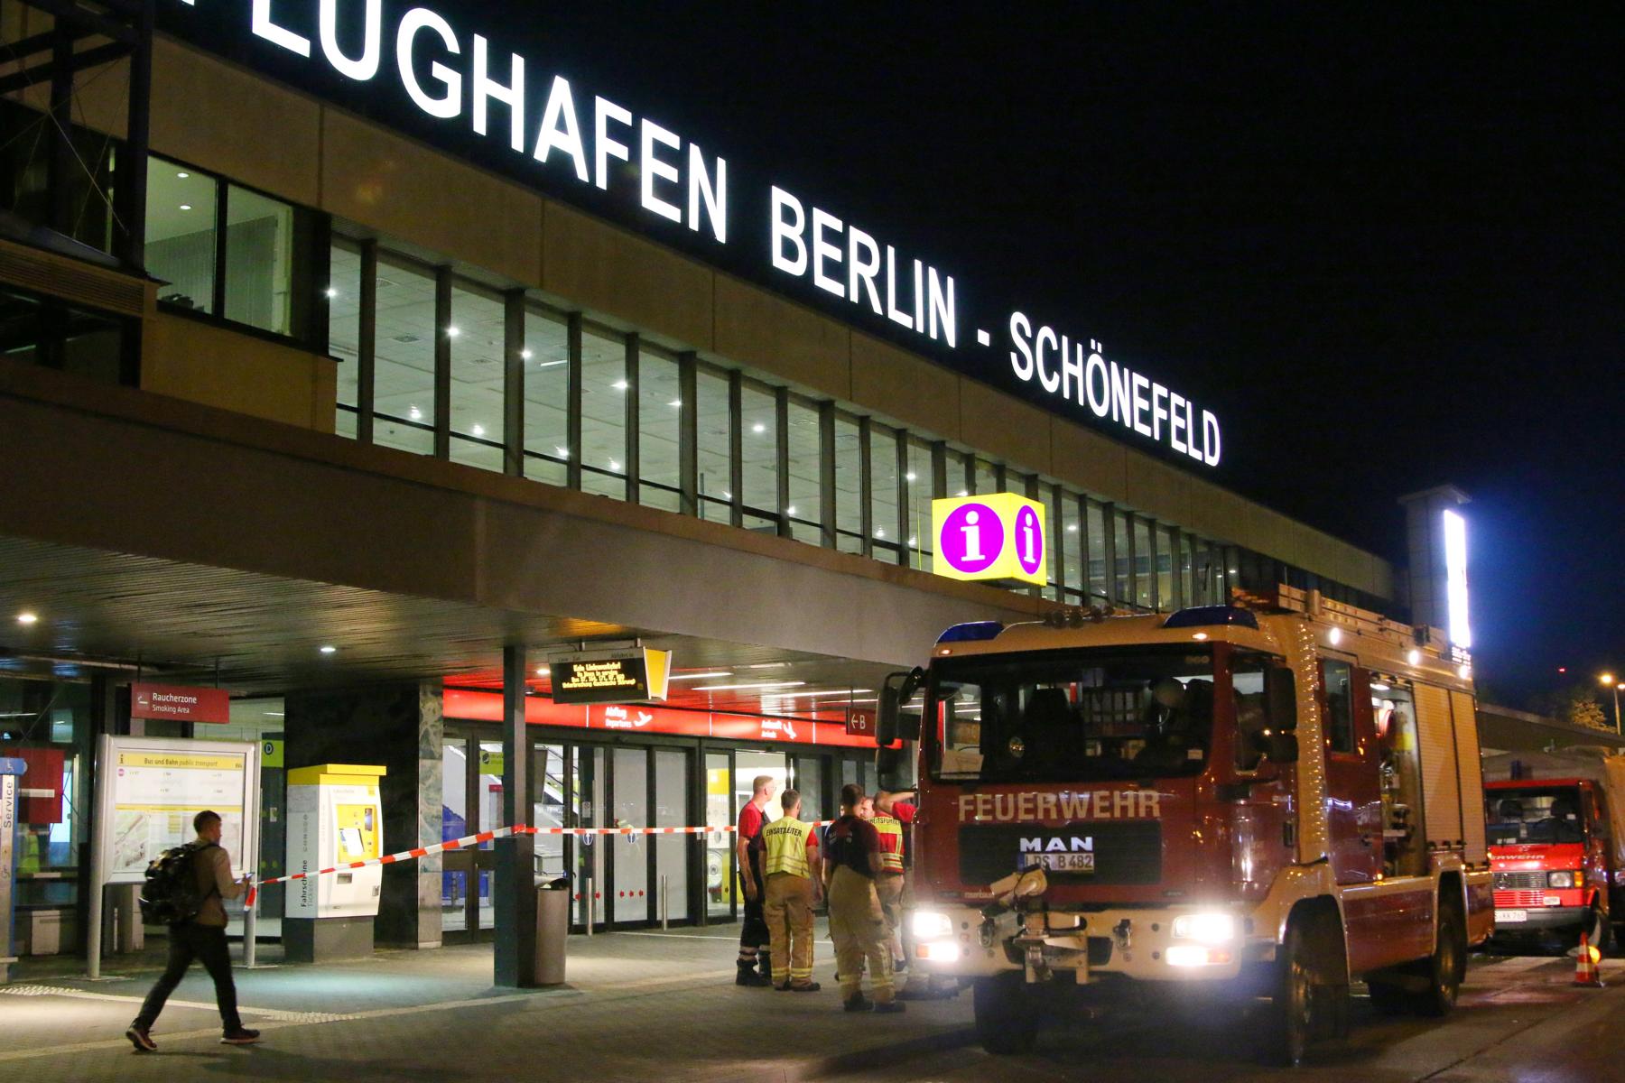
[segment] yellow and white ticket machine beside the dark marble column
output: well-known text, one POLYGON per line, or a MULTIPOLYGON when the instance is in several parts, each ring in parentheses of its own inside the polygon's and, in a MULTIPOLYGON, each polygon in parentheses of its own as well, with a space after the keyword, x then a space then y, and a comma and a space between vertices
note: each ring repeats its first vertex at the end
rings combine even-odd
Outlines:
POLYGON ((288 883, 283 948, 292 963, 372 955, 384 865, 382 766, 323 763, 288 771, 288 874, 338 869, 288 883))

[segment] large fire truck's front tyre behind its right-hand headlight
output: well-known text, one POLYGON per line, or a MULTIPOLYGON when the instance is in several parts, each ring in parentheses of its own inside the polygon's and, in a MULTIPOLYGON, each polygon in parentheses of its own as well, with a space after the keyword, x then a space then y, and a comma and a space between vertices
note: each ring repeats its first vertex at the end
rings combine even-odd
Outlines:
POLYGON ((1316 1039, 1347 1031, 1349 986, 1342 953, 1337 917, 1305 913, 1287 924, 1259 1049, 1264 1062, 1295 1068, 1316 1039))

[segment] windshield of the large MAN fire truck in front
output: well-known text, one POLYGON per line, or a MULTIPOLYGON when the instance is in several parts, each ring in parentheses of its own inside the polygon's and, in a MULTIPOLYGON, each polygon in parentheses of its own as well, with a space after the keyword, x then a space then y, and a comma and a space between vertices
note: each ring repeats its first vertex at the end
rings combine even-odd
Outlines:
POLYGON ((1214 714, 1207 648, 1045 651, 931 667, 942 779, 1105 781, 1199 774, 1214 714))

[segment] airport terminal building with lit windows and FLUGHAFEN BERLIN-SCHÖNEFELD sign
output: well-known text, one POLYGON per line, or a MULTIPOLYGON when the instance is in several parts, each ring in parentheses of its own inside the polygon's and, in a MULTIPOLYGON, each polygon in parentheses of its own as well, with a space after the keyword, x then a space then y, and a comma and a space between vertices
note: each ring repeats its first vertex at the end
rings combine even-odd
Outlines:
MULTIPOLYGON (((63 6, 0 0, 0 755, 57 779, 24 950, 83 950, 106 732, 262 742, 275 874, 284 771, 323 763, 387 768, 387 849, 512 809, 720 826, 760 773, 822 817, 874 783, 850 713, 962 620, 1289 583, 1445 623, 1441 573, 1412 598, 1209 481, 1246 422, 1199 388, 479 5, 63 6), (936 575, 931 502, 1001 492, 1043 508, 1046 585, 936 575), (561 659, 632 646, 671 651, 665 700, 556 701, 561 659), (229 723, 133 718, 143 682, 229 723)), ((387 869, 377 938, 489 930, 494 852, 387 869)), ((731 921, 730 862, 535 843, 577 927, 731 921)))

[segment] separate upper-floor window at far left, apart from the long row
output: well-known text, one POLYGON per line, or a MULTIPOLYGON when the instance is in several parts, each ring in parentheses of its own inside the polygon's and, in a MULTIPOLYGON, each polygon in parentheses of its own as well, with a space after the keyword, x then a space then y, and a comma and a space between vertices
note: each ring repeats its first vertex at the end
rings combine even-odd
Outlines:
POLYGON ((176 309, 307 339, 314 222, 291 203, 148 157, 146 270, 176 309))

